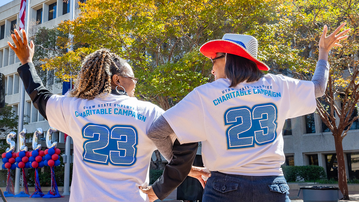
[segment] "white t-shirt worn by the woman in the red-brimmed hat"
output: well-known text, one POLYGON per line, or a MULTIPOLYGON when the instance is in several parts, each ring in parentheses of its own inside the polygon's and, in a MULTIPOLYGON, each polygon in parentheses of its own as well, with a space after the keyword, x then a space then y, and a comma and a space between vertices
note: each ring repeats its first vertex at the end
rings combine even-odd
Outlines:
POLYGON ((163 116, 181 144, 202 141, 211 171, 283 175, 284 121, 315 111, 313 82, 266 74, 228 86, 229 79, 199 86, 163 116))

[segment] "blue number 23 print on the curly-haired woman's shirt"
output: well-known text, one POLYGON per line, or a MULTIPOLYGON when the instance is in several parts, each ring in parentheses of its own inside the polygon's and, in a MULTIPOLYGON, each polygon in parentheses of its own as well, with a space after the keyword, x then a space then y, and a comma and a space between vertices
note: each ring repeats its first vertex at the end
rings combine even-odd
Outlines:
POLYGON ((138 134, 132 125, 88 123, 82 128, 84 161, 93 164, 131 166, 136 163, 138 134))

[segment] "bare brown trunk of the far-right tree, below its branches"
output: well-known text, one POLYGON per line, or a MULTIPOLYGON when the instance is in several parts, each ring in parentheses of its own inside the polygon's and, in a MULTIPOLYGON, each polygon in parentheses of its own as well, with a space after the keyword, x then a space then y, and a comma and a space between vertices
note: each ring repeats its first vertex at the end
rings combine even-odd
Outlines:
POLYGON ((334 134, 335 151, 338 162, 338 185, 344 200, 349 200, 348 182, 346 181, 345 160, 341 134, 334 134))

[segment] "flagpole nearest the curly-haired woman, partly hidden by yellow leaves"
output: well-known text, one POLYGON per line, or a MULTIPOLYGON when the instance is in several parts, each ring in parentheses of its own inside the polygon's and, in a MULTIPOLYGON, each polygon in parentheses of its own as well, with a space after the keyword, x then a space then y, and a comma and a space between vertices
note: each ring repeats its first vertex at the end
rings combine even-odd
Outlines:
MULTIPOLYGON (((75 0, 70 0, 70 20, 75 18, 75 0)), ((73 35, 69 34, 70 38, 70 48, 69 51, 73 51, 73 35)), ((71 73, 71 72, 70 72, 71 73)), ((72 90, 72 78, 70 78, 70 91, 72 90)), ((64 193, 62 195, 70 195, 69 188, 70 188, 70 152, 71 152, 71 137, 66 137, 65 142, 65 173, 64 173, 64 193)))

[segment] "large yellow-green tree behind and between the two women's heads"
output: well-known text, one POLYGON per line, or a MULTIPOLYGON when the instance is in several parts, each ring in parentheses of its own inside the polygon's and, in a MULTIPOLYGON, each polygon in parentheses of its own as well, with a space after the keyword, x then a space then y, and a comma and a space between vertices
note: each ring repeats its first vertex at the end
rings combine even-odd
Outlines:
MULTIPOLYGON (((209 60, 199 52, 201 44, 269 22, 277 5, 272 0, 88 0, 80 5, 77 19, 59 26, 74 35, 75 51, 43 59, 43 69, 56 69, 64 80, 76 79, 84 56, 104 47, 134 67, 140 80, 137 96, 167 110, 213 79, 209 60)), ((159 168, 160 155, 155 153, 157 161, 151 165, 159 168)))

